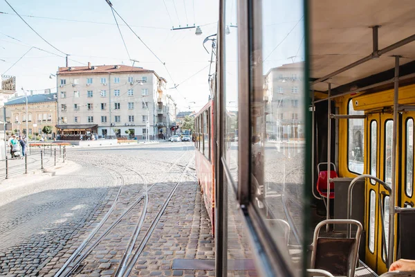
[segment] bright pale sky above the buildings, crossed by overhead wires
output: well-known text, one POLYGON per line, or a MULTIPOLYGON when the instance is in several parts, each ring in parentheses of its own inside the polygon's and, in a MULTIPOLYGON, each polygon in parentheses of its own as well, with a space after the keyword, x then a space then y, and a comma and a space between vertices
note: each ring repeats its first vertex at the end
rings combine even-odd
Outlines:
MULTIPOLYGON (((64 53, 70 54, 69 66, 80 66, 91 62, 100 64, 131 65, 111 8, 105 0, 8 0, 37 33, 64 53), (38 18, 48 17, 48 18, 38 18), (53 18, 53 19, 52 19, 53 18), (89 22, 85 22, 89 21, 89 22), (77 62, 75 62, 75 61, 77 62), (82 64, 80 64, 81 62, 82 64)), ((124 36, 131 59, 138 60, 135 66, 156 71, 167 79, 167 87, 178 85, 178 90, 169 89, 182 111, 199 110, 208 101, 209 60, 203 48, 203 39, 216 33, 218 3, 212 0, 112 0, 113 7, 133 28, 156 55, 165 62, 165 67, 124 26, 118 23, 124 36), (201 26, 203 34, 196 36, 195 29, 170 30, 172 26, 201 26), (205 69, 203 69, 205 66, 205 69), (194 73, 200 71, 194 75, 194 73), (186 80, 190 76, 194 77, 186 80), (173 81, 173 80, 174 81, 173 81), (185 81, 185 82, 183 82, 185 81), (183 83, 182 83, 183 82, 183 83)), ((0 0, 0 73, 30 49, 42 48, 63 55, 46 44, 17 15, 8 4, 0 0), (19 39, 19 41, 12 39, 19 39)), ((209 49, 210 44, 206 47, 209 49)), ((209 49, 210 50, 210 49, 209 49)), ((31 49, 6 75, 17 77, 17 91, 56 90, 55 74, 58 66, 65 66, 64 57, 31 49)), ((213 70, 214 68, 212 68, 213 70)))

